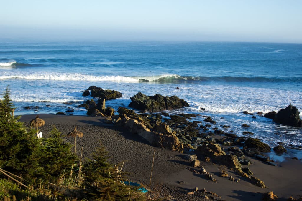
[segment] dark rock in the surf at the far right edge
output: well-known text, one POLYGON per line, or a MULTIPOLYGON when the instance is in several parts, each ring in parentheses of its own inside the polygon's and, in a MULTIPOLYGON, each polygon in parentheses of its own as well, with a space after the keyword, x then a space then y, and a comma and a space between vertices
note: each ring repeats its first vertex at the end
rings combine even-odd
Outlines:
POLYGON ((273 121, 279 124, 284 124, 294 127, 302 127, 302 120, 299 116, 300 112, 292 105, 288 105, 285 109, 278 111, 273 121))

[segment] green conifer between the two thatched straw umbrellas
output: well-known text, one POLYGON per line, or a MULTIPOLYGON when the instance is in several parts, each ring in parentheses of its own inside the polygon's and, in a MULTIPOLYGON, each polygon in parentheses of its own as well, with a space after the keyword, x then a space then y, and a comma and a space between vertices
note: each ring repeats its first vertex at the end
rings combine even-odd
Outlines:
POLYGON ((71 152, 72 145, 64 143, 63 135, 55 126, 50 131, 50 137, 43 138, 43 167, 47 180, 54 181, 66 168, 76 163, 78 158, 71 152))

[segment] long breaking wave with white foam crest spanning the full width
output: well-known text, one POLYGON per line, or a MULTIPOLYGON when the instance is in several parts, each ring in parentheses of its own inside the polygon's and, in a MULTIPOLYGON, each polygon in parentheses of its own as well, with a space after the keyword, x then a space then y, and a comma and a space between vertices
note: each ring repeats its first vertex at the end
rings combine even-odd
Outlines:
MULTIPOLYGON (((29 64, 14 63, 17 66, 27 66, 29 64)), ((114 81, 114 82, 158 82, 158 83, 184 83, 184 82, 255 82, 255 83, 280 83, 294 82, 302 83, 302 77, 206 77, 206 76, 179 76, 179 75, 161 75, 161 76, 95 76, 85 74, 68 74, 68 73, 49 73, 41 72, 37 74, 18 74, 18 75, 2 75, 0 79, 25 79, 25 80, 86 80, 86 81, 114 81)))

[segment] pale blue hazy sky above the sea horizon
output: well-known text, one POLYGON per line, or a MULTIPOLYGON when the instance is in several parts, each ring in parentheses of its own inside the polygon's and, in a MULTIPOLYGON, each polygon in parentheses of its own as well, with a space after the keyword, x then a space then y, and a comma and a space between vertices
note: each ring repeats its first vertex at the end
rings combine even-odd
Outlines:
POLYGON ((0 39, 302 42, 300 0, 4 0, 0 39))

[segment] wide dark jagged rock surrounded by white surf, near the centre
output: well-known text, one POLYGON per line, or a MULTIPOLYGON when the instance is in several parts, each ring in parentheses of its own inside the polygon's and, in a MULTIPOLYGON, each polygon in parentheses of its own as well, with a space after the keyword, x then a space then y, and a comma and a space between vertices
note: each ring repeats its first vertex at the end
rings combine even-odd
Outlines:
POLYGON ((189 104, 179 99, 177 96, 162 96, 156 94, 154 96, 146 96, 142 93, 137 93, 130 98, 131 102, 129 107, 135 108, 141 111, 159 112, 163 110, 173 110, 183 107, 189 107, 189 104))

